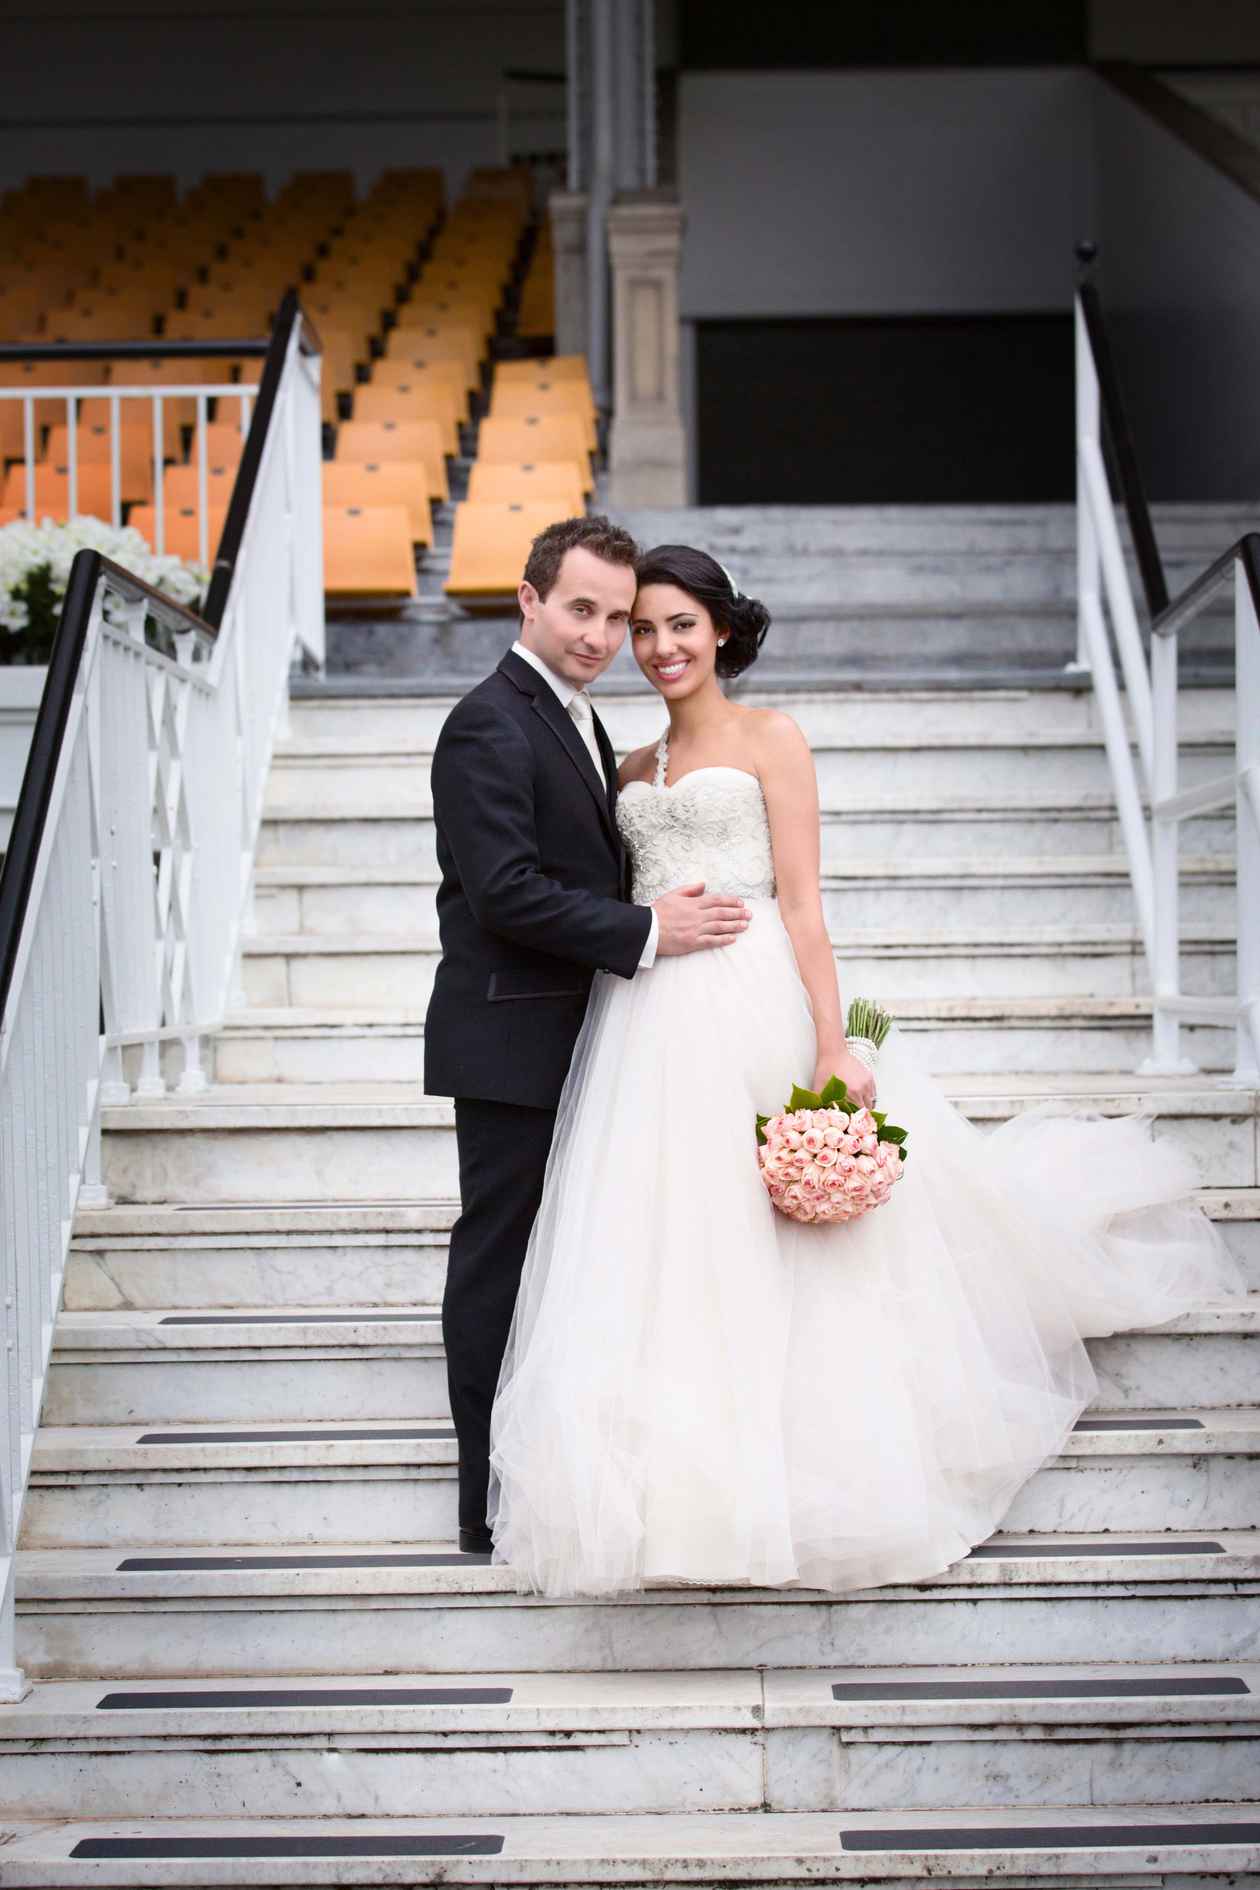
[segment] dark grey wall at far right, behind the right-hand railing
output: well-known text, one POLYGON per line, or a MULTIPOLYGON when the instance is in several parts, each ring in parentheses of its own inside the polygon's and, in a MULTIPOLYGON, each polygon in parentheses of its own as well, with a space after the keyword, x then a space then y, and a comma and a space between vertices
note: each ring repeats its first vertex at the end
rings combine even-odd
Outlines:
POLYGON ((1098 284, 1156 499, 1260 499, 1260 202, 1096 81, 1098 284))

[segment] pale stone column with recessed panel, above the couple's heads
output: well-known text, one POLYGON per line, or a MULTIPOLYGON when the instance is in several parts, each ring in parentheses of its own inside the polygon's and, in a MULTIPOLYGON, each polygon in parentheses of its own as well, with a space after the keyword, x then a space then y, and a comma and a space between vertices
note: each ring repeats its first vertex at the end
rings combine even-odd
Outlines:
POLYGON ((614 401, 608 501, 686 505, 678 387, 682 208, 665 191, 625 191, 608 212, 614 401))

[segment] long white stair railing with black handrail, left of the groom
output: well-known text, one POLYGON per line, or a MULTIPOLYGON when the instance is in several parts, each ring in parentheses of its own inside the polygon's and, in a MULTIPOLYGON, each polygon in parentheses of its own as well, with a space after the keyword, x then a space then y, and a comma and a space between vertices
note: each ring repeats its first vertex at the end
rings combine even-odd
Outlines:
POLYGON ((100 1106, 206 1085, 289 669, 323 650, 300 318, 276 363, 217 633, 77 556, 0 881, 0 1699, 25 1692, 15 1546, 76 1204, 104 1200, 100 1106))

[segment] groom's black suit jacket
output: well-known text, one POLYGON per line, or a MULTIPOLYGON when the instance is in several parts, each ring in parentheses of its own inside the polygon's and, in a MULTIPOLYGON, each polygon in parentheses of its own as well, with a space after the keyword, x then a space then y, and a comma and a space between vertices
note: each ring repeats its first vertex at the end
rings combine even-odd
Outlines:
POLYGON ((633 977, 652 915, 629 903, 608 781, 559 697, 512 650, 451 709, 433 756, 438 966, 425 1091, 555 1108, 597 970, 633 977))

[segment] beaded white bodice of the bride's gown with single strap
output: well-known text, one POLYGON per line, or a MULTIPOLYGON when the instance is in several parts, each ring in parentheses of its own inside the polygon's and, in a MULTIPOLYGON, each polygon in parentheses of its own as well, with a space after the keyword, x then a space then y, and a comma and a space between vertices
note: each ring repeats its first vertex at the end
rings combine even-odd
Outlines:
POLYGON ((741 900, 775 898, 775 856, 761 782, 742 767, 695 767, 673 788, 669 737, 656 750, 656 781, 631 781, 618 828, 633 866, 633 898, 650 905, 674 886, 705 881, 741 900))

